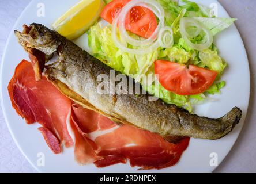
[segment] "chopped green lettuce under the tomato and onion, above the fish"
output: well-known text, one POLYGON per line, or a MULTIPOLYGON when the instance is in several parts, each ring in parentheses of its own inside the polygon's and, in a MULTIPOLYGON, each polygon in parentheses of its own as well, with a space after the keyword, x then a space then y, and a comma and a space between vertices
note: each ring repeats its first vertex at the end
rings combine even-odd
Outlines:
MULTIPOLYGON (((106 0, 106 3, 111 0, 106 0)), ((202 50, 191 48, 183 39, 180 33, 180 20, 183 17, 194 18, 200 24, 203 24, 215 36, 224 29, 228 28, 234 21, 234 18, 211 17, 208 7, 198 5, 195 2, 183 0, 179 5, 172 0, 156 0, 164 9, 164 24, 170 26, 173 32, 173 45, 170 48, 159 47, 150 53, 134 54, 122 51, 116 47, 111 37, 112 25, 107 26, 102 21, 96 22, 88 31, 88 45, 91 54, 101 60, 116 71, 129 75, 137 82, 140 82, 143 89, 149 94, 155 95, 163 99, 164 102, 175 104, 183 107, 190 112, 193 111, 193 105, 204 102, 208 94, 220 94, 220 89, 225 86, 225 81, 221 81, 227 63, 219 56, 216 45, 211 44, 210 47, 202 50), (187 66, 194 65, 207 68, 217 72, 217 77, 212 86, 204 93, 193 95, 179 95, 165 89, 157 80, 145 82, 142 76, 154 74, 154 62, 156 60, 169 60, 172 62, 185 64, 187 66), (157 85, 157 87, 156 87, 157 85)), ((159 22, 159 20, 157 19, 159 22)), ((187 30, 193 34, 193 28, 187 30)), ((140 39, 139 36, 129 33, 130 36, 140 39)), ((190 37, 191 43, 197 44, 204 41, 205 33, 200 33, 195 37, 190 37)), ((122 41, 122 37, 119 38, 122 41)), ((127 45, 131 49, 143 49, 144 46, 127 45)))

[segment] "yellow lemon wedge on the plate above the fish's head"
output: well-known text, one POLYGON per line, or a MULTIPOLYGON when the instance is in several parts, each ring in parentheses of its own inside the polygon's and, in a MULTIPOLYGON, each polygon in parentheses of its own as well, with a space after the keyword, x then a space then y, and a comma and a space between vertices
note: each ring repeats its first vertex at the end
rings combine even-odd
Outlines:
POLYGON ((76 39, 96 22, 104 5, 103 0, 82 0, 59 17, 52 27, 67 39, 76 39))

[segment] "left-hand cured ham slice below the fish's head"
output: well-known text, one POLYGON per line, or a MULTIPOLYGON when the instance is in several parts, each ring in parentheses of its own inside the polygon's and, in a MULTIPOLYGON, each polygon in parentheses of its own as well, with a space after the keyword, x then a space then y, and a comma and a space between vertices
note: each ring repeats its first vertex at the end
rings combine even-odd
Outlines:
MULTIPOLYGON (((63 143, 66 147, 73 146, 73 140, 66 127, 70 99, 61 94, 44 76, 40 81, 35 81, 31 63, 22 60, 18 64, 9 82, 8 91, 13 108, 25 118, 27 124, 39 122, 43 128, 51 132, 51 134, 43 133, 47 143, 52 136, 55 136, 59 144, 63 143)), ((55 145, 50 146, 50 148, 54 147, 55 145)), ((55 149, 52 151, 56 153, 55 149)))

